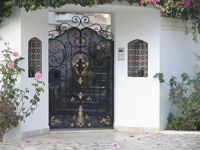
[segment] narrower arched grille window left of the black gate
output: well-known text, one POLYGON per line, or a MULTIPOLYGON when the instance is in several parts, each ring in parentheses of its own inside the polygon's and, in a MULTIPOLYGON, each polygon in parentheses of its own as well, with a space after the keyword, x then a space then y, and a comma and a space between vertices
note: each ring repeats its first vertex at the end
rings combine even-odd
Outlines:
POLYGON ((28 42, 28 76, 34 77, 36 72, 42 73, 42 42, 34 37, 28 42))

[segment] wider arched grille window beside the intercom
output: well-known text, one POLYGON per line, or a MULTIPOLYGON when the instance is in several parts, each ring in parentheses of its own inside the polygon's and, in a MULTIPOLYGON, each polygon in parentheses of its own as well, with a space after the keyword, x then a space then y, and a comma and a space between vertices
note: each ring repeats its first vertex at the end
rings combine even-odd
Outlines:
POLYGON ((148 76, 148 43, 142 40, 128 43, 128 76, 148 76))

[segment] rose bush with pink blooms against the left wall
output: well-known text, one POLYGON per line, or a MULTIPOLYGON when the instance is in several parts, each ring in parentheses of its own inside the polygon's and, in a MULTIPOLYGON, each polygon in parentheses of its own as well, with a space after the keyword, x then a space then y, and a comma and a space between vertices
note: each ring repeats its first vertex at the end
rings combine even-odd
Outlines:
POLYGON ((20 67, 20 61, 24 58, 12 52, 7 43, 5 45, 7 48, 1 51, 3 59, 0 63, 0 142, 6 132, 33 113, 41 92, 44 92, 44 82, 39 80, 42 77, 39 72, 32 84, 35 92, 31 99, 28 97, 28 89, 22 90, 16 86, 18 76, 25 71, 20 67))

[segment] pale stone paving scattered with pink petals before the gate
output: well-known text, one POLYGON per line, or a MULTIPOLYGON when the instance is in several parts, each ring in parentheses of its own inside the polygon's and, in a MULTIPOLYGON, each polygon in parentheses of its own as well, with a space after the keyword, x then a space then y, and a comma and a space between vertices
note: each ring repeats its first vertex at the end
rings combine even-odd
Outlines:
POLYGON ((200 135, 64 131, 0 143, 0 150, 200 150, 200 135))

